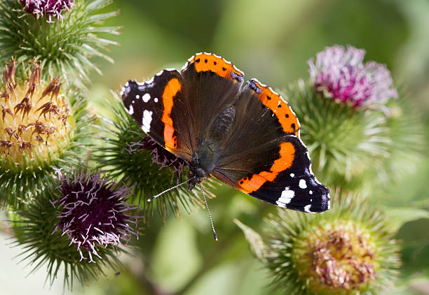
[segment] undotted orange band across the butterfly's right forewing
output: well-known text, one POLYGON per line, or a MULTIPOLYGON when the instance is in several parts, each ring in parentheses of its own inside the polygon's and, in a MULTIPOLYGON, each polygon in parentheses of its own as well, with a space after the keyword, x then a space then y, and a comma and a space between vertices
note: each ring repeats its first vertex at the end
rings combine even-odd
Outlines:
POLYGON ((276 159, 271 166, 270 171, 262 171, 259 174, 252 175, 251 178, 245 177, 238 180, 241 192, 250 194, 257 191, 267 181, 274 181, 278 173, 285 171, 292 166, 295 157, 295 147, 292 143, 280 143, 280 158, 276 159))

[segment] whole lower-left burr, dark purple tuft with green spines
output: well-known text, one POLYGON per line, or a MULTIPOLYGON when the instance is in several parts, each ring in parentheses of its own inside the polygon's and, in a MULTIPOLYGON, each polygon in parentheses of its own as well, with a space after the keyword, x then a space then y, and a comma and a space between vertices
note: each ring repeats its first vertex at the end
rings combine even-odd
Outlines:
POLYGON ((125 203, 127 187, 100 173, 57 175, 56 187, 19 209, 11 222, 24 259, 36 268, 46 264, 50 284, 64 270, 64 287, 71 288, 74 280, 85 284, 104 268, 121 266, 121 241, 137 234, 137 217, 125 203))

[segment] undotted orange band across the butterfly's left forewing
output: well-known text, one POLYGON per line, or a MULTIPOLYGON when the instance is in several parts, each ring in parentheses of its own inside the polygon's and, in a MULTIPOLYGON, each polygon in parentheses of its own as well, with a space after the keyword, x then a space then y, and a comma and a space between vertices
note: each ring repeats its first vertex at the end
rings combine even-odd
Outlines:
POLYGON ((176 136, 173 136, 175 129, 173 128, 172 118, 170 115, 172 106, 174 104, 173 97, 177 94, 177 92, 180 91, 180 89, 182 89, 182 85, 180 84, 179 80, 177 80, 177 78, 174 78, 168 81, 168 84, 165 86, 163 92, 164 111, 162 121, 165 124, 164 141, 165 148, 170 151, 177 148, 177 138, 176 136))

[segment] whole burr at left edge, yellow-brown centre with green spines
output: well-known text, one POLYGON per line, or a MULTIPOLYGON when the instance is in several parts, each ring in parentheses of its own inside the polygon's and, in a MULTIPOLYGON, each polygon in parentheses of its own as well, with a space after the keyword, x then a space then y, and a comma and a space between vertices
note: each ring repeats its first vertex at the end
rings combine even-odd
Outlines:
POLYGON ((49 185, 53 169, 81 163, 83 120, 92 119, 82 99, 61 90, 59 78, 41 78, 38 63, 20 71, 23 79, 15 71, 15 61, 6 64, 0 83, 0 203, 18 206, 49 185))

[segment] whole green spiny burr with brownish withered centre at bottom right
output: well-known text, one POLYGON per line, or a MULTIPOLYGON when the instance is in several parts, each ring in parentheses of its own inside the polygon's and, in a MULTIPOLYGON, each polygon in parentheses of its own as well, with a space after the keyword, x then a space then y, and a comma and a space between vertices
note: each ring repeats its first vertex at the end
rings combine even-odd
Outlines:
POLYGON ((339 196, 318 215, 278 210, 262 238, 273 287, 285 294, 381 294, 398 275, 399 248, 378 211, 339 196))

